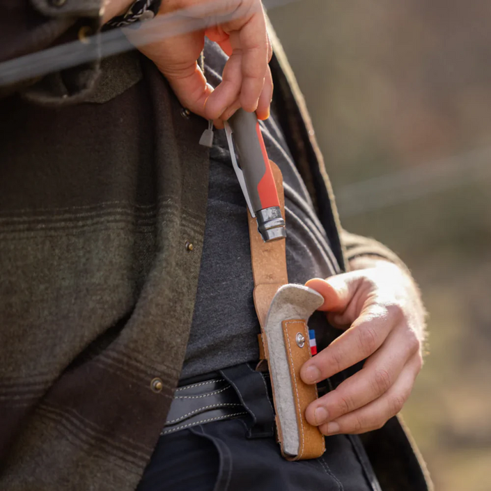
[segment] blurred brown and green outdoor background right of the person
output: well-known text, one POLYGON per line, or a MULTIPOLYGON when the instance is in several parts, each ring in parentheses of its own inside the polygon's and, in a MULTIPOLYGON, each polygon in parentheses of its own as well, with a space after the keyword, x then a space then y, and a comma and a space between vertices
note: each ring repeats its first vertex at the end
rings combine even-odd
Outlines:
POLYGON ((491 2, 270 11, 343 226, 405 260, 430 312, 403 416, 442 491, 491 490, 491 2))

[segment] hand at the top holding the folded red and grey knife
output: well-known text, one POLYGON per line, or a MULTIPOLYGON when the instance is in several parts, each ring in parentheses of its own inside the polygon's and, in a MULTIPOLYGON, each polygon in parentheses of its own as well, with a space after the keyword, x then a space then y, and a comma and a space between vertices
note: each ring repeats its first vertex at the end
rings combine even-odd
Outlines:
MULTIPOLYGON (((208 28, 164 38, 140 47, 171 84, 182 106, 211 120, 226 120, 242 107, 258 118, 270 115, 272 57, 265 13, 260 0, 164 0, 159 15, 186 8, 186 20, 208 19, 208 28), (213 3, 216 3, 213 6, 213 3), (203 8, 208 5, 210 8, 203 8), (201 8, 200 8, 201 6, 201 8), (226 15, 234 20, 226 20, 226 15), (215 91, 198 66, 205 36, 228 54, 223 81, 215 91)), ((128 30, 130 31, 130 30, 128 30)), ((132 40, 137 31, 127 32, 132 40)), ((217 121, 220 126, 219 121, 217 121)))

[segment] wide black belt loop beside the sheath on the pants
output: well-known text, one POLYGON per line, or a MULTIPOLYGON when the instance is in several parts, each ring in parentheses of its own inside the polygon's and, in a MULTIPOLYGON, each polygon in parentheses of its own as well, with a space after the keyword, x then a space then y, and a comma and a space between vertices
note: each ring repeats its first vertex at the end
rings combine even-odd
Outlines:
POLYGON ((247 437, 274 436, 274 411, 264 376, 247 363, 224 368, 219 372, 235 389, 240 402, 251 415, 251 421, 247 424, 247 437))

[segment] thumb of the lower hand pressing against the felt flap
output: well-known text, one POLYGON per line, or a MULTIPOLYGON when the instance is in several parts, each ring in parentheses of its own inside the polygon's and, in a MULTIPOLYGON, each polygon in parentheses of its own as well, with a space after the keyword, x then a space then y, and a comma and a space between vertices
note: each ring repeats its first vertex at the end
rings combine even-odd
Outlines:
POLYGON ((336 274, 328 279, 314 278, 305 283, 324 297, 320 311, 344 312, 357 292, 361 276, 352 273, 336 274))

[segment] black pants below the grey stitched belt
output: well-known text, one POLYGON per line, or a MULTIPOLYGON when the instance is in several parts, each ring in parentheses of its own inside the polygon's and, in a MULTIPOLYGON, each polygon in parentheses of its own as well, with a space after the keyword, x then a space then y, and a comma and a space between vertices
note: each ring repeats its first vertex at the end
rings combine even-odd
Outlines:
POLYGON ((326 453, 318 459, 283 459, 263 375, 247 365, 221 375, 249 414, 160 437, 138 491, 380 490, 357 437, 327 437, 326 453))

